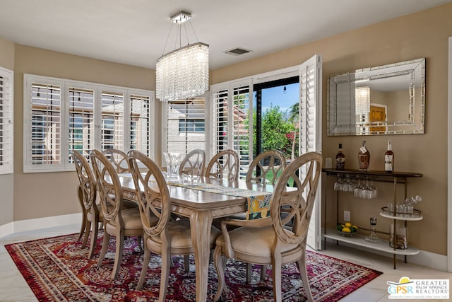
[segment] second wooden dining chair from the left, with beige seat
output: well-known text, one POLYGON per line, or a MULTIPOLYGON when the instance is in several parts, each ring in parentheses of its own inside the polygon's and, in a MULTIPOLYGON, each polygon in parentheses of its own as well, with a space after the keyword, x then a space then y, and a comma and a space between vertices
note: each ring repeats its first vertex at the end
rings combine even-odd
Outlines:
POLYGON ((91 164, 97 178, 97 187, 100 195, 100 207, 104 215, 105 231, 102 241, 97 267, 102 262, 107 253, 110 236, 116 237, 116 248, 112 279, 116 279, 119 266, 121 265, 124 237, 143 236, 143 226, 141 225, 140 211, 138 207, 124 207, 124 198, 121 182, 111 161, 102 152, 93 150, 90 153, 91 164))

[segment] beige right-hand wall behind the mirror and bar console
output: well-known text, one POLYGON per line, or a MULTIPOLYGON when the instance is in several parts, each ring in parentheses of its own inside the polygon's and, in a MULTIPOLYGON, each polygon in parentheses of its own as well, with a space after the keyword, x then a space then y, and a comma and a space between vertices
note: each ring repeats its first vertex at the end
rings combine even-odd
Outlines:
MULTIPOLYGON (((358 168, 357 152, 367 141, 371 153, 371 170, 383 170, 386 141, 391 139, 397 171, 423 173, 424 177, 408 182, 408 195, 420 194, 424 201, 416 206, 422 221, 408 222, 409 245, 421 250, 446 255, 447 244, 447 63, 448 37, 452 36, 452 4, 396 18, 366 28, 317 40, 289 50, 269 54, 240 64, 211 71, 212 83, 221 83, 287 66, 295 66, 313 54, 323 58, 323 129, 324 157, 335 156, 343 144, 346 168, 358 168), (326 83, 328 76, 369 66, 425 57, 427 59, 426 133, 378 137, 326 136, 326 83)), ((325 179, 328 226, 335 223, 334 179, 325 179)), ((351 220, 369 226, 369 217, 376 216, 377 228, 388 231, 390 221, 379 216, 379 209, 393 199, 391 185, 378 183, 381 198, 364 200, 340 194, 342 211, 351 211, 351 220)), ((403 187, 398 187, 403 190, 403 187)), ((400 192, 402 193, 402 192, 400 192)), ((398 202, 403 196, 398 196, 398 202)))

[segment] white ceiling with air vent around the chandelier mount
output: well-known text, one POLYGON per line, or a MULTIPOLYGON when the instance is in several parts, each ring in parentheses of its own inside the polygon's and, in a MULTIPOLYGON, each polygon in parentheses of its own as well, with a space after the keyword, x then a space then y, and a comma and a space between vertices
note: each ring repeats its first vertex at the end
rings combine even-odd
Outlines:
POLYGON ((197 37, 188 24, 189 42, 210 45, 210 69, 217 69, 451 1, 0 0, 0 37, 155 69, 158 57, 179 47, 165 47, 176 35, 169 17, 187 11, 197 37), (224 53, 235 47, 252 52, 224 53))

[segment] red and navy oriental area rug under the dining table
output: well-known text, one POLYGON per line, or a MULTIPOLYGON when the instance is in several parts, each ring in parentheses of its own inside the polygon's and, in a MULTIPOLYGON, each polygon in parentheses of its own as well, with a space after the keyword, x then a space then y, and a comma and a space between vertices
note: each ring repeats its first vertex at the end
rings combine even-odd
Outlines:
MULTIPOLYGON (((110 240, 104 264, 97 268, 97 252, 88 260, 88 248, 81 249, 78 234, 44 238, 6 245, 28 285, 39 301, 157 301, 160 286, 160 256, 153 255, 143 290, 136 291, 143 255, 136 238, 125 240, 124 256, 116 280, 110 279, 114 262, 114 240, 110 240)), ((378 277, 381 272, 333 257, 307 252, 307 269, 311 291, 316 301, 338 301, 360 286, 378 277)), ((184 271, 184 258, 174 256, 169 274, 167 301, 196 301, 194 260, 190 272, 184 271)), ((304 289, 296 265, 283 267, 283 300, 305 301, 304 289)), ((271 270, 265 281, 253 272, 254 282, 246 284, 246 265, 228 260, 225 271, 229 293, 222 301, 270 301, 273 298, 271 270)), ((208 301, 213 301, 218 288, 215 268, 208 275, 208 301)))

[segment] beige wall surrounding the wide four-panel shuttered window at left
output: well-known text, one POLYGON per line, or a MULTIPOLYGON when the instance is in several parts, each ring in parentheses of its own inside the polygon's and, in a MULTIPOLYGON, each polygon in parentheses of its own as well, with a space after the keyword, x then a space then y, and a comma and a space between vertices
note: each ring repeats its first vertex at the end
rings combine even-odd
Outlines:
POLYGON ((78 213, 75 172, 23 173, 23 74, 155 90, 155 71, 23 45, 15 54, 13 220, 78 213))

